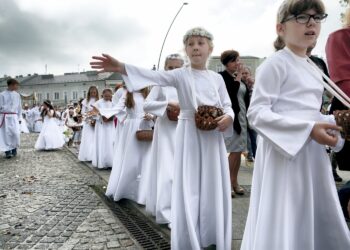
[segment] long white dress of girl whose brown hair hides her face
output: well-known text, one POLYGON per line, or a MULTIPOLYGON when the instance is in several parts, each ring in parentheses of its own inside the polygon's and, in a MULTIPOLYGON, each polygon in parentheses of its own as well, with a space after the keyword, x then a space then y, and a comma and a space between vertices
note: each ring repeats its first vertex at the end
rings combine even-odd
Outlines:
MULTIPOLYGON (((146 168, 149 167, 151 143, 136 139, 136 131, 139 130, 145 115, 143 111, 144 97, 139 92, 134 92, 133 97, 135 106, 132 109, 126 108, 127 117, 118 137, 106 195, 112 196, 115 201, 125 198, 139 204, 145 204, 146 196, 149 193, 149 182, 148 179, 145 179, 145 176, 149 175, 145 172, 148 172, 146 168)), ((119 101, 120 110, 123 110, 124 103, 125 95, 119 101)), ((120 112, 119 115, 123 115, 123 112, 120 112)))

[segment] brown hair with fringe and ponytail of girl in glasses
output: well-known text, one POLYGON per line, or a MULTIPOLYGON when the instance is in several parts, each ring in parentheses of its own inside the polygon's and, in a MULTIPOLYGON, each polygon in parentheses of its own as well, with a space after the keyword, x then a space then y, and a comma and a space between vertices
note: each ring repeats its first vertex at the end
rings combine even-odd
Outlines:
MULTIPOLYGON (((321 0, 285 0, 278 9, 277 23, 284 23, 289 16, 297 16, 311 9, 315 10, 317 14, 325 14, 326 12, 321 0)), ((276 38, 273 45, 276 51, 286 46, 281 36, 276 38)))

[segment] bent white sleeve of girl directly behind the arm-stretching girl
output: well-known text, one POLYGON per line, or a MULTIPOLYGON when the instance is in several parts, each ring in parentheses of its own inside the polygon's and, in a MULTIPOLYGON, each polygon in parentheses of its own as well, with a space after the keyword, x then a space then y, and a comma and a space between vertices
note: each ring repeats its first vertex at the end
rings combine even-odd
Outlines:
POLYGON ((146 113, 162 117, 167 106, 168 100, 162 87, 154 86, 143 104, 143 110, 146 113))

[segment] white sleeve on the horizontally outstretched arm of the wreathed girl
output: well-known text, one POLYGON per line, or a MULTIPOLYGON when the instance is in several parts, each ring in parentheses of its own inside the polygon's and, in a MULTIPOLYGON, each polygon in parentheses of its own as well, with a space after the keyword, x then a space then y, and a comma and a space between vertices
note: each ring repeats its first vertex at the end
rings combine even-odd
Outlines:
POLYGON ((125 65, 127 75, 122 75, 127 89, 134 92, 147 86, 173 86, 176 88, 177 74, 181 69, 154 71, 125 65))

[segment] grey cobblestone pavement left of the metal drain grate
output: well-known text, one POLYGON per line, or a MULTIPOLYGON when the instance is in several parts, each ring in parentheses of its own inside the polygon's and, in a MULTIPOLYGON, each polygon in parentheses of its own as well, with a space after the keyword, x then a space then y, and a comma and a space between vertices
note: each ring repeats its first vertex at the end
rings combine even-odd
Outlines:
POLYGON ((0 156, 0 249, 139 249, 90 185, 105 182, 66 149, 0 156))

